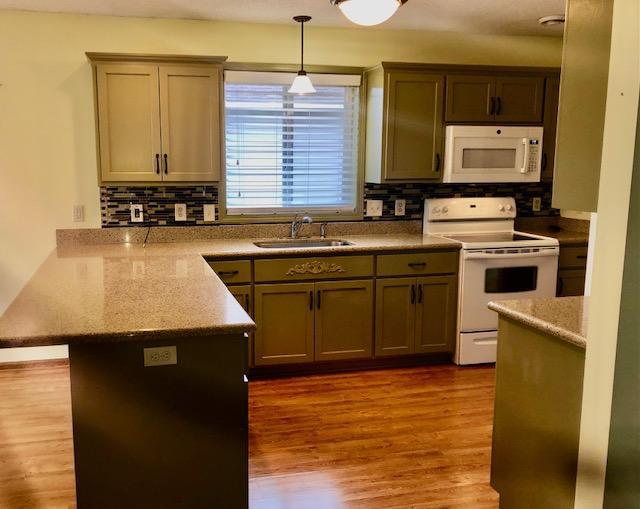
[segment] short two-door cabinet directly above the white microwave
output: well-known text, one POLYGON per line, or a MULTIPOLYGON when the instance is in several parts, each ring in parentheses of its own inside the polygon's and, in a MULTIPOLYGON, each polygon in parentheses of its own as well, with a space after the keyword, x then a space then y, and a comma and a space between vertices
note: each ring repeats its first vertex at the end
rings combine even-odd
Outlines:
POLYGON ((447 76, 447 122, 540 123, 544 77, 447 76))

